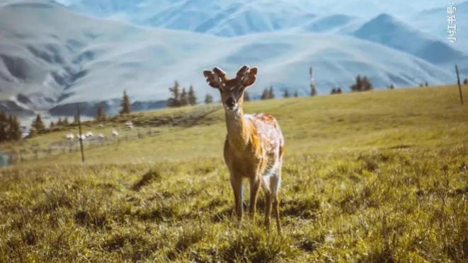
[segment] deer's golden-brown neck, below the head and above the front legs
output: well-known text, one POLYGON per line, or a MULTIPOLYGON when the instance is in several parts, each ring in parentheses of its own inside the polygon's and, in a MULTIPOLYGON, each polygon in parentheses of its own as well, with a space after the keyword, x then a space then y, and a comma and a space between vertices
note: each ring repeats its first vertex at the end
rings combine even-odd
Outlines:
POLYGON ((249 144, 249 124, 244 119, 241 107, 235 112, 226 111, 227 140, 234 148, 245 148, 249 144))

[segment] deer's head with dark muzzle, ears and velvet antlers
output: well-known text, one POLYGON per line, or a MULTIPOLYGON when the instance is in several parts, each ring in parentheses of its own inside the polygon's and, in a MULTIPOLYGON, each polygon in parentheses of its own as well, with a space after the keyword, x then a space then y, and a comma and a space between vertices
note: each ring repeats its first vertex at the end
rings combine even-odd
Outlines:
POLYGON ((226 73, 217 67, 212 71, 203 71, 207 83, 219 90, 224 109, 230 112, 241 109, 244 103, 244 90, 255 82, 256 74, 257 68, 250 69, 249 66, 241 67, 236 77, 231 79, 228 79, 226 73))

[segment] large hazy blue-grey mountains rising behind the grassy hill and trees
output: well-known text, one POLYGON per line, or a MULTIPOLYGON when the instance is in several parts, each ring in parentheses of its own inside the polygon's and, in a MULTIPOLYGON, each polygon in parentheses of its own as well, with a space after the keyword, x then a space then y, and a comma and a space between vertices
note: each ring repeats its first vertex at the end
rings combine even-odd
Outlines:
POLYGON ((468 73, 466 52, 399 18, 330 14, 306 2, 4 1, 0 107, 59 115, 74 103, 112 107, 123 90, 142 109, 161 107, 175 80, 217 96, 201 74, 213 66, 229 74, 258 66, 254 96, 270 85, 306 94, 309 66, 321 94, 357 74, 384 88, 452 83, 452 63, 468 73))

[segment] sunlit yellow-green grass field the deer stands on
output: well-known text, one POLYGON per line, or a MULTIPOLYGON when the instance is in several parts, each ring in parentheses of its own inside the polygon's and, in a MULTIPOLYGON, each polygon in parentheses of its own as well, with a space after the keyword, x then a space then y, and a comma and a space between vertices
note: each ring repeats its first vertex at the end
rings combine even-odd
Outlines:
POLYGON ((468 108, 455 86, 245 110, 285 135, 282 235, 232 215, 222 108, 185 107, 108 120, 103 132, 131 119, 157 134, 86 148, 85 164, 74 152, 0 170, 0 262, 467 262, 468 108))

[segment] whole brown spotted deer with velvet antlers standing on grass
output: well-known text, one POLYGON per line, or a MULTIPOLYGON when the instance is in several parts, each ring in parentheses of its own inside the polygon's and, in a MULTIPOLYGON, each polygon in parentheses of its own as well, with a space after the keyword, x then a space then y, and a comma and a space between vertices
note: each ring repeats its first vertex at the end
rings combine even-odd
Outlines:
POLYGON ((256 204, 260 187, 266 196, 265 226, 270 227, 271 209, 275 214, 278 233, 284 139, 280 125, 268 114, 244 115, 244 91, 256 81, 257 68, 242 66, 235 78, 215 67, 203 71, 207 83, 219 90, 226 119, 227 136, 224 141, 224 162, 234 192, 234 211, 239 221, 243 215, 243 185, 246 177, 250 184, 249 215, 255 223, 256 204))

